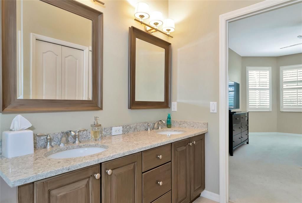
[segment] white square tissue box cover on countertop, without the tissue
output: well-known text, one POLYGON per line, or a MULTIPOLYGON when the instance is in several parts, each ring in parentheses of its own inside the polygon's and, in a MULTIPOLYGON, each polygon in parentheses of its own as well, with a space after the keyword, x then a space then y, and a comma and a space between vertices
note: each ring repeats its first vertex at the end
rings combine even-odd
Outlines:
POLYGON ((31 130, 2 132, 2 155, 11 158, 34 153, 34 133, 31 130))

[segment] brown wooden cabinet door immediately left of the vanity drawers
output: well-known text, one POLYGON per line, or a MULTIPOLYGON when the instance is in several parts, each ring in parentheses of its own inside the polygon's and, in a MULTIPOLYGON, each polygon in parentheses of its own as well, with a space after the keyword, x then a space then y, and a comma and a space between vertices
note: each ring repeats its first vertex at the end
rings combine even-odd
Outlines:
POLYGON ((142 203, 141 152, 102 163, 102 203, 142 203))

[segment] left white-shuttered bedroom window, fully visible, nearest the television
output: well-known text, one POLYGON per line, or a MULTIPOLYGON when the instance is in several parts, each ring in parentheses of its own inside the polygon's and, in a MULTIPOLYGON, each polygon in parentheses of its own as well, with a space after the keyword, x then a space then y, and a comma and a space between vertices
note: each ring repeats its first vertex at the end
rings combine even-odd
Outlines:
POLYGON ((271 67, 246 67, 246 108, 271 111, 271 67))

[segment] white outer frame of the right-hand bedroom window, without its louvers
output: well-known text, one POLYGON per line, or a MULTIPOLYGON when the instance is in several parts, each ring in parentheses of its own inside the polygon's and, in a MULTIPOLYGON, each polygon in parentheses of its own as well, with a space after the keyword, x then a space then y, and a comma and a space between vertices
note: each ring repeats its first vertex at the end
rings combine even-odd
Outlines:
POLYGON ((284 107, 283 106, 283 70, 292 70, 297 69, 295 67, 302 66, 302 64, 297 65, 286 65, 280 66, 280 74, 279 74, 279 84, 280 84, 280 111, 281 112, 302 112, 302 107, 284 107))

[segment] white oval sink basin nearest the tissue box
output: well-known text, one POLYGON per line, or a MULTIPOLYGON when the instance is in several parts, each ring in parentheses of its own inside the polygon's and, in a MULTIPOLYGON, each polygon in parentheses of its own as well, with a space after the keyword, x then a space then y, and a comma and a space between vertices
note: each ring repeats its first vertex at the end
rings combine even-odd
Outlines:
POLYGON ((47 156, 47 158, 66 159, 73 157, 84 157, 91 154, 97 154, 105 150, 106 149, 102 147, 83 147, 56 152, 54 154, 50 154, 49 156, 47 156))

